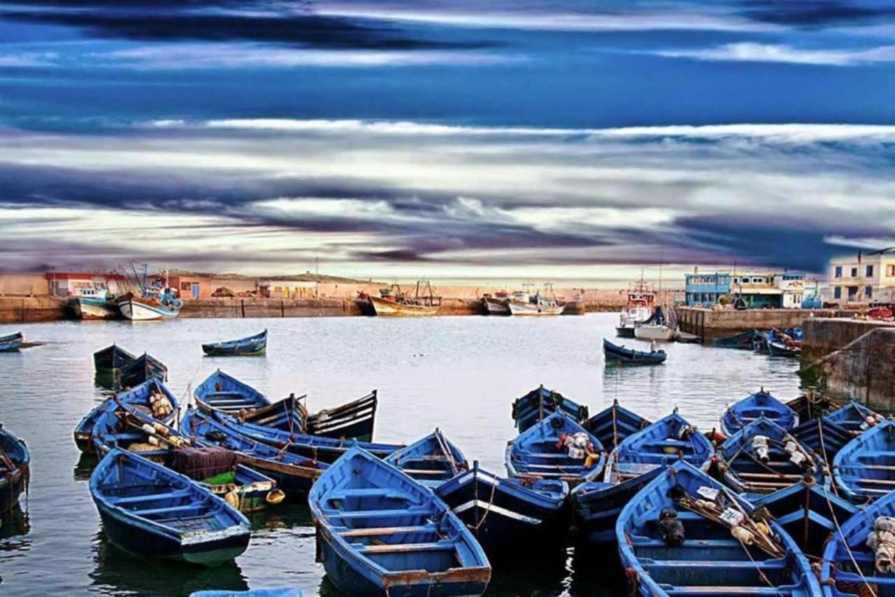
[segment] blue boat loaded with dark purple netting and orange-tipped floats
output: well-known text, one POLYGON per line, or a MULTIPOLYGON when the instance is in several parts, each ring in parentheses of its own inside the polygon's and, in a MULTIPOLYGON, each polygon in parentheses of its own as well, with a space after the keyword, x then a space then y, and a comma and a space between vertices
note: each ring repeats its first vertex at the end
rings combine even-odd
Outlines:
POLYGON ((239 463, 238 454, 183 436, 139 405, 111 402, 93 429, 92 441, 100 457, 113 449, 135 452, 183 473, 241 512, 276 506, 286 497, 275 480, 239 463))

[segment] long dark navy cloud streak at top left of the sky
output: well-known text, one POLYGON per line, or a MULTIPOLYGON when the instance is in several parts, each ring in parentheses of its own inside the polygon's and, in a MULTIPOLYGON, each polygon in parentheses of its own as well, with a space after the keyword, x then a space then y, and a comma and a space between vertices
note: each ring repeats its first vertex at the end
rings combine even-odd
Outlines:
POLYGON ((311 7, 294 13, 264 12, 264 4, 227 2, 84 2, 76 7, 42 2, 5 4, 0 17, 21 22, 64 25, 98 38, 146 41, 255 41, 308 48, 412 50, 482 48, 486 43, 425 39, 407 30, 347 18, 315 14, 311 7), (30 4, 27 10, 22 4, 30 4), (234 10, 215 10, 215 9, 234 10), (237 10, 238 9, 238 10, 237 10), (253 10, 257 9, 257 10, 253 10))

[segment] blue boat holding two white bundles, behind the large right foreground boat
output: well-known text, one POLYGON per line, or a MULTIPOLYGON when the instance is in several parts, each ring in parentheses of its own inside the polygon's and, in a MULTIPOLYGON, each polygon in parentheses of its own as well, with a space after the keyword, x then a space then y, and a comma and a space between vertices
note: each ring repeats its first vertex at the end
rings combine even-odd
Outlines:
POLYGON ((714 464, 728 487, 749 501, 801 480, 829 484, 821 459, 764 417, 730 436, 718 448, 714 464))

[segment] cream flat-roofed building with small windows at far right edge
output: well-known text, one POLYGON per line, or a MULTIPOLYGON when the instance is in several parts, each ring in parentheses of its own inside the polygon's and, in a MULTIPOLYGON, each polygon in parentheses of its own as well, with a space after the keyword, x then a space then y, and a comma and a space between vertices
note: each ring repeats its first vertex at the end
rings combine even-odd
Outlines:
POLYGON ((895 247, 830 260, 830 297, 838 303, 895 302, 895 247))

